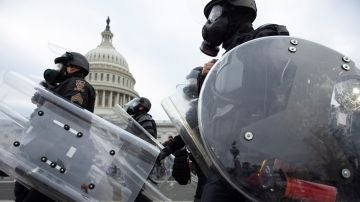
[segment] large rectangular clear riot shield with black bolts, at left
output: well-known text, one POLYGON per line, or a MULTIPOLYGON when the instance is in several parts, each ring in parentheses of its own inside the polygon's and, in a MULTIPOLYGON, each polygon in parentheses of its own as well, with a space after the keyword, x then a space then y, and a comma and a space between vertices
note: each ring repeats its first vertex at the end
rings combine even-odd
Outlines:
POLYGON ((57 200, 135 199, 157 147, 25 76, 0 84, 1 170, 57 200))

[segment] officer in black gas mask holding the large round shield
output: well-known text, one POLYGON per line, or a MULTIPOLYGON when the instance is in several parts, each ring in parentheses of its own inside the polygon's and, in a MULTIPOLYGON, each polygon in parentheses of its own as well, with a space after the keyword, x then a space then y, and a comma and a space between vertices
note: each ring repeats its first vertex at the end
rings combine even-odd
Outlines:
MULTIPOLYGON (((254 29, 252 23, 256 18, 256 14, 257 8, 254 0, 210 1, 204 8, 204 15, 207 18, 207 21, 202 29, 204 41, 200 46, 200 50, 206 55, 215 57, 220 50, 220 45, 228 52, 237 45, 255 38, 274 35, 289 35, 289 32, 283 25, 267 24, 254 29)), ((212 59, 205 63, 203 67, 197 67, 190 73, 196 75, 197 93, 200 92, 206 75, 216 61, 216 59, 212 59)), ((164 156, 169 155, 184 145, 180 137, 177 137, 176 140, 177 141, 174 141, 172 145, 163 149, 158 159, 164 158, 164 156)), ((176 168, 175 166, 176 164, 174 164, 174 169, 176 168)), ((228 186, 227 183, 218 176, 214 169, 210 170, 208 176, 210 177, 206 186, 206 189, 208 190, 204 191, 207 192, 207 194, 205 199, 202 200, 222 200, 220 197, 217 198, 215 194, 221 193, 221 189, 228 186), (217 190, 212 190, 213 188, 217 190)), ((202 188, 198 190, 201 192, 202 188)), ((230 197, 230 200, 243 200, 241 196, 240 198, 237 198, 237 193, 234 193, 234 198, 231 198, 231 194, 225 194, 222 197, 230 197)), ((201 193, 197 193, 197 196, 201 197, 201 193)))

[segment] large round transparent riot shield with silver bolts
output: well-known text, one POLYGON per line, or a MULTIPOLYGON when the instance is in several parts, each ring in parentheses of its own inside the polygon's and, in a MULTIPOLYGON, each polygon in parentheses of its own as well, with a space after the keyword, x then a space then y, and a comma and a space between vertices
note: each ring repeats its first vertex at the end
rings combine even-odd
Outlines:
POLYGON ((359 106, 359 70, 348 57, 266 37, 212 68, 199 128, 216 170, 253 201, 357 201, 359 106))

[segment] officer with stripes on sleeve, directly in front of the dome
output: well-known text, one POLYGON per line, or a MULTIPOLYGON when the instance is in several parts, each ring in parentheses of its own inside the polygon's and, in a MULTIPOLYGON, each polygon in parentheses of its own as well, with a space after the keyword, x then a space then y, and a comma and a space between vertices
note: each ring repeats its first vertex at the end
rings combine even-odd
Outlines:
MULTIPOLYGON (((41 84, 58 96, 94 112, 95 90, 86 80, 89 73, 89 62, 85 56, 77 52, 66 52, 55 58, 55 64, 59 69, 47 69, 44 71, 45 81, 41 84)), ((41 97, 34 95, 32 102, 42 104, 41 97)), ((42 193, 25 188, 19 182, 15 182, 16 201, 53 201, 42 193)))

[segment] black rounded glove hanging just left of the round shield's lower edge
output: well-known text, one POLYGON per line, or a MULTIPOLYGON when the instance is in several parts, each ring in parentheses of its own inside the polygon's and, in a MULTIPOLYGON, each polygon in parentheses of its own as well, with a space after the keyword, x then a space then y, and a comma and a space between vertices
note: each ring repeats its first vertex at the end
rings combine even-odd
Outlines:
POLYGON ((186 185, 190 181, 189 154, 186 149, 182 149, 176 151, 174 155, 172 176, 179 184, 186 185))

